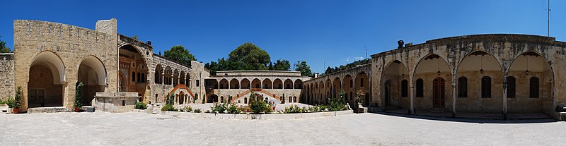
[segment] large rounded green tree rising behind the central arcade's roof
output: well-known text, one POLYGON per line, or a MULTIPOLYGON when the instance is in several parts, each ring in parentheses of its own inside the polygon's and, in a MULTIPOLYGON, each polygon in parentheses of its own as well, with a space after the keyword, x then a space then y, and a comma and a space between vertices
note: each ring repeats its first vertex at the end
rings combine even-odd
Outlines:
POLYGON ((228 62, 238 71, 265 71, 270 63, 270 54, 260 47, 246 42, 229 54, 228 62))

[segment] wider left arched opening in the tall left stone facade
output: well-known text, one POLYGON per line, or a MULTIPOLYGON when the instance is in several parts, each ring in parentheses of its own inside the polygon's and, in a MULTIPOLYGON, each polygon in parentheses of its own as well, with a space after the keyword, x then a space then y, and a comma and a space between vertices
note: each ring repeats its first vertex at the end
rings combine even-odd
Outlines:
POLYGON ((51 51, 37 54, 30 64, 29 73, 28 108, 62 107, 65 66, 59 56, 51 51))

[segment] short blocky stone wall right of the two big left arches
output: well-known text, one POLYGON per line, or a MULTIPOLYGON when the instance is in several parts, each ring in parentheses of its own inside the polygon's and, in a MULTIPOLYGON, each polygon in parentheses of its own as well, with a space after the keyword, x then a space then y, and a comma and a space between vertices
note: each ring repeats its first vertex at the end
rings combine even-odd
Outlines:
POLYGON ((97 92, 94 106, 111 113, 129 112, 139 97, 137 92, 97 92))

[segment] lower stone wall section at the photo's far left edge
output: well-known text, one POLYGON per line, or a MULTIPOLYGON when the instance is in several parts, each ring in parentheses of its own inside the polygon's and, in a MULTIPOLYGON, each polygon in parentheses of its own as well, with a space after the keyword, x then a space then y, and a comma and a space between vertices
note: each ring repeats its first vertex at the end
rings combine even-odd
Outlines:
POLYGON ((6 100, 16 94, 13 86, 13 64, 13 54, 0 54, 0 100, 6 100))

